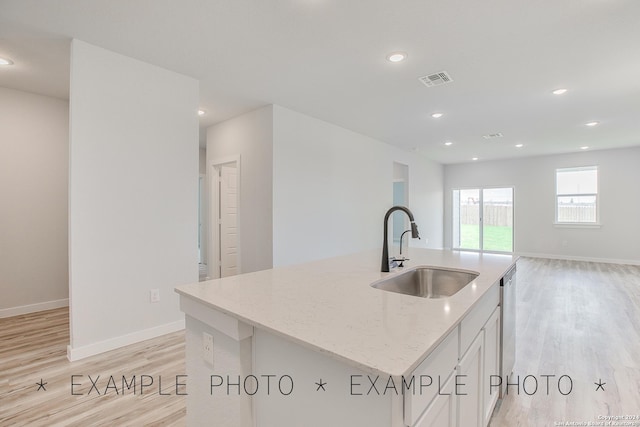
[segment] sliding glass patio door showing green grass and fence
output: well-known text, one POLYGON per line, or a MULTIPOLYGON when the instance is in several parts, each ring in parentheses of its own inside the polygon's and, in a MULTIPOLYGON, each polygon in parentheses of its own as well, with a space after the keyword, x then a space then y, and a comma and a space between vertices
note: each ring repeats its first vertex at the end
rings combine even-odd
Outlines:
POLYGON ((513 188, 453 190, 453 248, 513 252, 513 188))

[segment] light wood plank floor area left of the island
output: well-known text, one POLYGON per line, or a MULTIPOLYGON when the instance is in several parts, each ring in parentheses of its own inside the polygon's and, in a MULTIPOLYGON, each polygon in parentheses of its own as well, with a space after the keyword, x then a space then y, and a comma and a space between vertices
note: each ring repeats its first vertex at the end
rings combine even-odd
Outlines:
POLYGON ((185 373, 184 332, 77 362, 67 360, 68 343, 67 308, 0 319, 0 426, 185 425, 185 398, 176 394, 176 382, 186 382, 176 381, 185 373))

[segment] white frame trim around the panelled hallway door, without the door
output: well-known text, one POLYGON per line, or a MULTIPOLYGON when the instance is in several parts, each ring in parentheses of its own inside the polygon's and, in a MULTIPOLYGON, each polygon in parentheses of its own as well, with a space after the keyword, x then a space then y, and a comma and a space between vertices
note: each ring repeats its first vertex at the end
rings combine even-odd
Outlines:
POLYGON ((236 206, 238 206, 238 273, 242 272, 242 208, 240 206, 241 192, 241 169, 240 155, 220 157, 212 159, 207 167, 207 175, 209 175, 209 215, 208 215, 208 265, 207 270, 211 279, 220 278, 220 167, 235 164, 238 169, 237 174, 237 193, 236 206))

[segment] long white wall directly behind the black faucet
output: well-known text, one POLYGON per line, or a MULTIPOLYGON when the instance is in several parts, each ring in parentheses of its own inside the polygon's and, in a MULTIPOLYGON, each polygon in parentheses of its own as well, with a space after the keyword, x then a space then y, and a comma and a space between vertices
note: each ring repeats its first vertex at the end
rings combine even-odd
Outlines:
POLYGON ((409 166, 409 208, 423 237, 411 246, 442 247, 441 165, 280 106, 273 122, 275 266, 381 248, 394 161, 409 166))

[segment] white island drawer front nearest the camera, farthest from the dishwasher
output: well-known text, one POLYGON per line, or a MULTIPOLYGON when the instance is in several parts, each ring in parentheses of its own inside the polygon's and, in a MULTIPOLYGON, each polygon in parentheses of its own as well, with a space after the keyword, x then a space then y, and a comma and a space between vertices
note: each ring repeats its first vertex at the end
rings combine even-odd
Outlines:
MULTIPOLYGON (((458 340, 458 328, 456 327, 413 371, 412 378, 415 389, 404 390, 404 422, 406 425, 412 426, 438 394, 438 390, 444 387, 445 381, 458 363, 458 340), (422 384, 425 386, 429 383, 428 377, 430 377, 431 383, 428 387, 420 387, 421 376, 424 379, 422 384)), ((407 382, 410 380, 411 378, 406 378, 407 382)))

